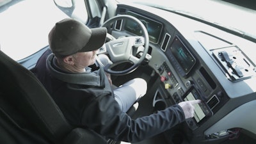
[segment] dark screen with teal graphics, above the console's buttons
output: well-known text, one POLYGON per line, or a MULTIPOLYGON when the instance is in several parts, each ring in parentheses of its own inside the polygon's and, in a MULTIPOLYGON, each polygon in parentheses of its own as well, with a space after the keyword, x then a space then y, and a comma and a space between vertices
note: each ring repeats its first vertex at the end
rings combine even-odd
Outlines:
POLYGON ((186 74, 191 70, 195 65, 195 57, 188 51, 186 46, 181 42, 179 37, 175 37, 173 43, 170 47, 170 50, 179 63, 180 67, 184 70, 186 74))

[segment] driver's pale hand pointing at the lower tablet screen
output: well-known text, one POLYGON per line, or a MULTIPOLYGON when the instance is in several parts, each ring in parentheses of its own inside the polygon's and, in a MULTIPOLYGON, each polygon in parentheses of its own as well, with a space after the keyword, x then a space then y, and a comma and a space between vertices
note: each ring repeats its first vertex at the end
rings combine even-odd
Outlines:
POLYGON ((189 100, 189 101, 184 101, 180 102, 179 106, 182 108, 185 118, 192 118, 195 113, 195 107, 193 105, 200 103, 201 100, 189 100))

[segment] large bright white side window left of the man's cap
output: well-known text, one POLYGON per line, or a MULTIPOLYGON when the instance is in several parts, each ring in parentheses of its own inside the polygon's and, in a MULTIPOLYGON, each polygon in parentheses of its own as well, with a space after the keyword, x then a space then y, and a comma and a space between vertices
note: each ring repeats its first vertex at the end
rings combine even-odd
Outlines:
POLYGON ((56 21, 67 17, 53 1, 0 0, 1 51, 21 60, 48 45, 56 21))

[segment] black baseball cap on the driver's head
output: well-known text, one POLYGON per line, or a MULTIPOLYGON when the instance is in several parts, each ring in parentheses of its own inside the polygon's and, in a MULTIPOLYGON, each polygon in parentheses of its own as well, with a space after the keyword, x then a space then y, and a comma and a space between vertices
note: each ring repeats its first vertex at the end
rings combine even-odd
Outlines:
POLYGON ((49 46, 56 56, 95 51, 106 40, 106 28, 88 28, 79 20, 67 18, 57 22, 49 33, 49 46))

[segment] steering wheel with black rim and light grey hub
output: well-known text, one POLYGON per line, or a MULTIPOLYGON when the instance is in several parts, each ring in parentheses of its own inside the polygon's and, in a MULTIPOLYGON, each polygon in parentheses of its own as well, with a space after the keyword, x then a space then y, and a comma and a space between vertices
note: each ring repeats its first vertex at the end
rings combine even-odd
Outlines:
POLYGON ((113 36, 107 35, 107 37, 111 37, 111 40, 109 42, 106 42, 104 46, 106 47, 106 53, 109 54, 109 57, 113 63, 106 65, 104 67, 104 70, 105 72, 113 75, 125 75, 136 70, 136 68, 141 65, 141 63, 147 56, 149 38, 147 29, 145 28, 144 24, 135 17, 132 17, 131 15, 117 15, 109 20, 106 20, 106 22, 104 22, 101 27, 108 28, 109 33, 110 29, 107 26, 113 26, 116 20, 132 20, 136 22, 142 34, 142 36, 123 36, 122 38, 117 39, 113 36), (140 55, 140 58, 136 57, 138 53, 140 55), (125 70, 113 70, 113 67, 115 67, 116 65, 127 62, 132 64, 131 67, 125 70))

